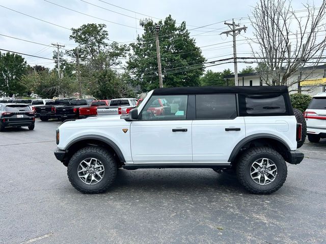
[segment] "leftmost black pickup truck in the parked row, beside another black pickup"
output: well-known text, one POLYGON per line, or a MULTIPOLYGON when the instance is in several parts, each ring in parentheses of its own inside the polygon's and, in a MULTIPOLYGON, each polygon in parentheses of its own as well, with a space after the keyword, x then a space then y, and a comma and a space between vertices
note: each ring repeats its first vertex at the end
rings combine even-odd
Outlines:
POLYGON ((39 117, 42 121, 47 121, 50 118, 58 118, 56 115, 57 108, 70 106, 72 99, 56 99, 55 101, 46 102, 44 106, 35 107, 34 111, 36 117, 39 117))

